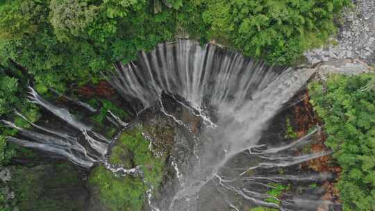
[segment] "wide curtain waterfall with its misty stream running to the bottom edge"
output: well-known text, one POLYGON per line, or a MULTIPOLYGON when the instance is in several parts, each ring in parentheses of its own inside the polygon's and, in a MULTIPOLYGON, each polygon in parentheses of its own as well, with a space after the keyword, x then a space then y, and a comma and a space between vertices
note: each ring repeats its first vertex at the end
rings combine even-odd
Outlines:
MULTIPOLYGON (((183 98, 203 120, 208 119, 204 121, 207 127, 203 129, 203 136, 213 141, 203 143, 197 166, 183 176, 183 185, 169 207, 183 210, 174 202, 194 201, 191 199, 197 197, 203 185, 219 178, 220 167, 234 155, 255 146, 267 122, 301 90, 312 74, 311 69, 268 67, 215 45, 201 47, 194 41, 178 40, 159 44, 151 53, 140 53, 136 62, 117 63, 116 74, 108 76, 108 81, 125 100, 138 102, 135 110, 159 103, 165 115, 184 126, 181 120, 165 112, 160 99, 165 92, 183 98), (215 124, 210 124, 213 122, 207 115, 210 111, 215 111, 215 124), (217 151, 225 155, 217 156, 217 151)), ((327 153, 280 158, 276 162, 260 163, 259 167, 288 166, 327 153)), ((173 164, 176 168, 176 162, 173 164)), ((176 174, 180 180, 182 173, 177 169, 176 174)), ((194 210, 193 207, 188 205, 186 210, 194 210)))

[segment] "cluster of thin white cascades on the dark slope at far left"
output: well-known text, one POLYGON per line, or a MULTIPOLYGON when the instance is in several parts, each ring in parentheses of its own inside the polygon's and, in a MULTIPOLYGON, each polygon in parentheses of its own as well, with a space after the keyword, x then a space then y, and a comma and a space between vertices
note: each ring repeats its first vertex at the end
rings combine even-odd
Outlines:
MULTIPOLYGON (((56 115, 56 117, 59 117, 65 121, 69 126, 72 126, 76 130, 80 131, 81 135, 85 137, 85 140, 89 146, 85 146, 85 144, 79 140, 79 135, 69 134, 66 131, 53 130, 45 126, 33 124, 19 112, 16 112, 19 117, 22 117, 22 119, 26 120, 29 124, 31 124, 31 126, 33 126, 33 128, 36 128, 39 131, 20 128, 10 121, 3 120, 3 124, 10 128, 17 129, 19 131, 18 135, 27 138, 27 140, 24 140, 18 137, 8 137, 8 141, 15 142, 21 146, 56 153, 57 155, 61 155, 75 164, 86 168, 92 167, 94 163, 99 162, 103 155, 107 153, 109 141, 106 140, 106 138, 102 135, 94 133, 91 126, 78 121, 74 115, 72 115, 65 108, 59 108, 49 101, 42 99, 42 97, 35 92, 32 87, 29 87, 28 94, 28 99, 31 102, 41 105, 46 110, 49 110, 49 112, 51 112, 53 115, 56 115), (42 133, 42 131, 44 133, 42 133)), ((87 108, 88 105, 85 107, 87 108)))

